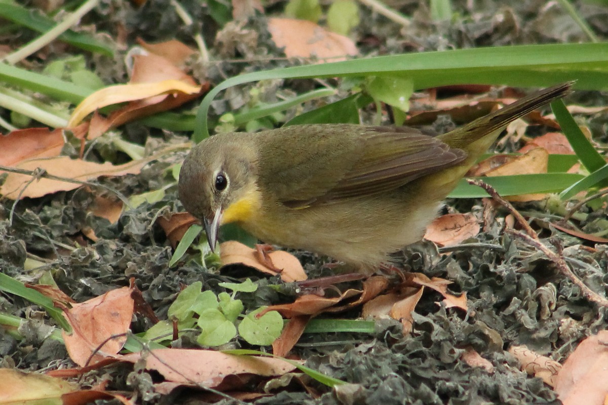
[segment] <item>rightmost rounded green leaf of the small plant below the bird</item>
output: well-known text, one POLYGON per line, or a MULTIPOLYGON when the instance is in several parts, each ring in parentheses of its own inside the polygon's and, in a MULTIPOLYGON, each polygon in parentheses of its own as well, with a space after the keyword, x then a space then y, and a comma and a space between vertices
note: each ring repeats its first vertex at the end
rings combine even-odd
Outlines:
POLYGON ((249 344, 271 345, 283 330, 283 318, 277 311, 269 311, 260 318, 256 315, 264 308, 248 313, 238 325, 238 334, 249 344))

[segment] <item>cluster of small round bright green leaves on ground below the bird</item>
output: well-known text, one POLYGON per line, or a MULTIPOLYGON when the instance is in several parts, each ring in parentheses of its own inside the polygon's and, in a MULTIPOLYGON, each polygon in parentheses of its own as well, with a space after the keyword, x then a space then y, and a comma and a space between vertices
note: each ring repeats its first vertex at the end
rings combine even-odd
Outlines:
POLYGON ((196 341, 204 346, 226 344, 238 335, 249 344, 270 345, 283 330, 283 318, 277 311, 258 316, 264 308, 243 314, 244 306, 237 293, 254 293, 257 285, 250 279, 243 283, 220 283, 220 287, 232 290, 232 294, 202 291, 202 282, 189 285, 171 304, 166 321, 148 329, 145 339, 166 342, 173 335, 173 322, 179 333, 200 330, 196 341))

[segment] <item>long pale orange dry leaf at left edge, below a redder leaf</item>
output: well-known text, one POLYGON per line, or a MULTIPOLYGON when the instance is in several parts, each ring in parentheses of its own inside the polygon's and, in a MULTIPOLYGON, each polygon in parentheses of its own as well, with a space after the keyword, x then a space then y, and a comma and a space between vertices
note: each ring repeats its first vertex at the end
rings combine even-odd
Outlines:
MULTIPOLYGON (((19 163, 16 167, 35 171, 36 169, 44 169, 49 174, 66 179, 86 181, 97 179, 101 176, 120 176, 125 174, 137 174, 143 166, 150 162, 151 158, 142 160, 134 160, 124 165, 114 166, 111 163, 94 163, 86 160, 71 159, 67 156, 58 156, 52 158, 38 158, 26 160, 19 163)), ((30 183, 32 176, 26 174, 9 173, 4 184, 0 187, 0 194, 9 199, 15 200, 19 197, 22 189, 24 191, 21 197, 42 197, 46 194, 51 194, 57 191, 69 191, 80 187, 77 183, 62 182, 61 180, 45 179, 44 177, 36 179, 30 183), (29 183, 29 184, 28 184, 29 183)))

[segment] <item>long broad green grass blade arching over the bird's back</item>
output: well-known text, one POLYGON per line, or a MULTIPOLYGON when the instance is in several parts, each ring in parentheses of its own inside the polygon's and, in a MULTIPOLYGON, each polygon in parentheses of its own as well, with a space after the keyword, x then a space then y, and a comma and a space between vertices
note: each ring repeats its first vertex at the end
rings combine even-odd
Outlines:
POLYGON ((576 87, 608 87, 608 43, 549 44, 378 56, 336 63, 264 70, 229 78, 202 100, 196 115, 196 142, 209 136, 207 112, 213 98, 238 84, 277 78, 400 76, 415 89, 446 84, 508 84, 547 86, 578 80, 576 87), (599 84, 599 85, 598 85, 599 84))

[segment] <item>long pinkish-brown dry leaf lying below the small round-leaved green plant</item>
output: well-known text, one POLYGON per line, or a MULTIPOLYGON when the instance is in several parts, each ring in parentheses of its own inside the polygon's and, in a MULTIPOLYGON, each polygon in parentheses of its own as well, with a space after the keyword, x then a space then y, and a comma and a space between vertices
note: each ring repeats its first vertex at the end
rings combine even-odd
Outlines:
POLYGON ((156 349, 148 353, 130 353, 122 359, 130 362, 143 359, 146 369, 156 370, 173 383, 212 388, 230 375, 276 376, 295 369, 281 359, 228 355, 214 350, 156 349))

